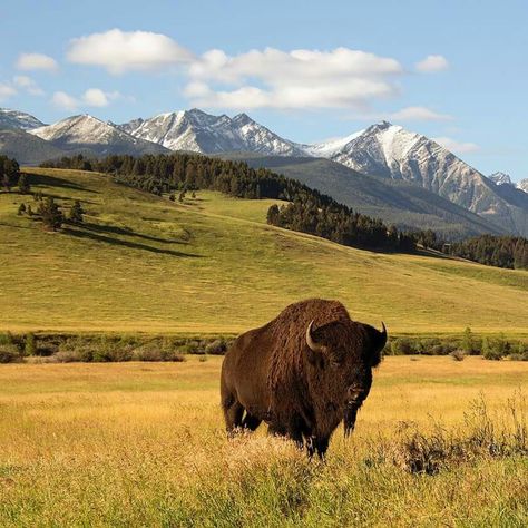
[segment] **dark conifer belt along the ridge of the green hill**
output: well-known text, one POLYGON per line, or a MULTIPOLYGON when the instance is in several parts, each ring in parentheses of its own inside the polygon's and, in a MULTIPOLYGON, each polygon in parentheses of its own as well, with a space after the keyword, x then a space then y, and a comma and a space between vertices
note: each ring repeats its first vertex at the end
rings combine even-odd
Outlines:
POLYGON ((415 235, 388 227, 381 219, 356 213, 330 196, 295 179, 243 162, 196 154, 145 155, 138 158, 113 155, 100 160, 82 155, 46 162, 41 167, 72 168, 113 174, 116 180, 157 195, 194 189, 219 190, 239 198, 274 198, 289 202, 272 206, 267 222, 292 231, 313 234, 339 244, 385 250, 414 251, 415 235))

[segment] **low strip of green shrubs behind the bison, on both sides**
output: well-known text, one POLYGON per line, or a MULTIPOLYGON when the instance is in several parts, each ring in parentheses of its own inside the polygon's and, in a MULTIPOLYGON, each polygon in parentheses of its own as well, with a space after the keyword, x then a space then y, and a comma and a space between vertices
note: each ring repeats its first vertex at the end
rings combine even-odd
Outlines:
MULTIPOLYGON (((0 334, 0 363, 16 363, 26 358, 69 363, 115 361, 185 361, 187 354, 223 355, 233 338, 211 336, 143 336, 143 335, 62 335, 28 333, 0 334)), ((462 361, 466 355, 482 355, 487 360, 507 358, 528 361, 528 343, 511 341, 503 335, 478 338, 466 329, 462 336, 413 338, 394 336, 383 350, 384 355, 450 355, 462 361)))

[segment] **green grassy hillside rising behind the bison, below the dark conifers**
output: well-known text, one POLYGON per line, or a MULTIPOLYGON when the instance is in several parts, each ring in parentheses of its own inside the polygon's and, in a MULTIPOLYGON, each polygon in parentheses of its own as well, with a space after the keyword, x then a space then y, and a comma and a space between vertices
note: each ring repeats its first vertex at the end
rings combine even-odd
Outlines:
POLYGON ((291 302, 340 299, 391 332, 527 331, 528 273, 379 254, 265 224, 272 201, 172 203, 108 176, 31 169, 32 190, 86 225, 46 233, 0 194, 0 330, 239 332, 291 302))

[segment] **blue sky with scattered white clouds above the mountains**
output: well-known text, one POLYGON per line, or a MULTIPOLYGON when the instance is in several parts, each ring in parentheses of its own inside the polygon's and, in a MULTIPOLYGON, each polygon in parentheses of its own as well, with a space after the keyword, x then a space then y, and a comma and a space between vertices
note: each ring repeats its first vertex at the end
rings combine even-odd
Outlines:
POLYGON ((0 106, 47 123, 199 106, 309 143, 385 118, 528 177, 526 0, 2 0, 0 19, 0 106))

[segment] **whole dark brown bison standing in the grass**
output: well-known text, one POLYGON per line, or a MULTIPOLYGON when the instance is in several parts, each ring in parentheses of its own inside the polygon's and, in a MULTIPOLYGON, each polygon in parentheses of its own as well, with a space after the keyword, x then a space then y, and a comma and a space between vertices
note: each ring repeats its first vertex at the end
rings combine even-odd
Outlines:
POLYGON ((352 431, 381 361, 387 331, 356 323, 338 301, 287 306, 266 325, 239 335, 222 365, 227 432, 284 434, 324 456, 340 421, 352 431))

